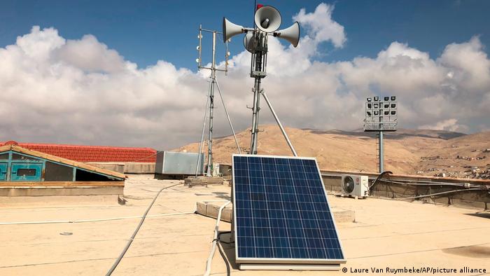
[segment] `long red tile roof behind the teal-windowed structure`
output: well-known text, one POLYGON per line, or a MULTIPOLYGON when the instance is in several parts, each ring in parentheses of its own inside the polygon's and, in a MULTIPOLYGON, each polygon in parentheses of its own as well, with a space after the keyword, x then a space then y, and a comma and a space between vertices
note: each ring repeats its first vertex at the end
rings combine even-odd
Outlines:
MULTIPOLYGON (((16 142, 0 142, 4 144, 16 142)), ((64 144, 17 143, 25 149, 41 151, 78 162, 137 162, 155 163, 157 151, 151 148, 127 148, 120 146, 77 146, 64 144)))

